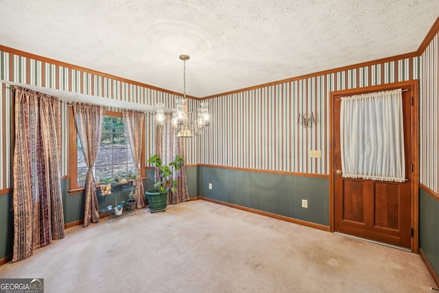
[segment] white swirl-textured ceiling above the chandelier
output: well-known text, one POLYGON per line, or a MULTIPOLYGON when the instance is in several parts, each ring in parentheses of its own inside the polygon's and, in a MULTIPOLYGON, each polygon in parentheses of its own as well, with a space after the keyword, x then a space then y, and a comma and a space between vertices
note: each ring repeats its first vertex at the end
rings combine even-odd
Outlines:
POLYGON ((0 0, 0 45, 206 97, 416 51, 439 0, 0 0))

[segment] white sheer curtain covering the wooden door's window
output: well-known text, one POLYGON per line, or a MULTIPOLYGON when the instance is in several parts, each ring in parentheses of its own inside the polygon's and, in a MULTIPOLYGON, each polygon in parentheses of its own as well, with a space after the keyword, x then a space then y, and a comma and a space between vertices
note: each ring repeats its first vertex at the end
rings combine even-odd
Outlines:
POLYGON ((401 89, 342 97, 343 177, 403 182, 403 130, 401 89))

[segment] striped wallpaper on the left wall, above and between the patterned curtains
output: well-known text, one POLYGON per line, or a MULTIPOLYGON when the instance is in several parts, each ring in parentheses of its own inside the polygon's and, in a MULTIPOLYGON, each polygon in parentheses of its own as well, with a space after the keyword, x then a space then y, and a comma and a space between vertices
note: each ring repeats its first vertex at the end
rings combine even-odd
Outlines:
MULTIPOLYGON (((26 58, 0 51, 0 80, 19 82, 41 86, 49 89, 59 89, 72 93, 82 93, 97 97, 107 97, 127 102, 154 105, 157 102, 165 103, 168 108, 174 107, 176 95, 157 89, 151 89, 137 84, 129 84, 105 76, 87 73, 60 65, 54 65, 32 58, 26 58)), ((8 84, 1 83, 0 91, 0 135, 5 139, 0 141, 0 189, 11 186, 12 145, 11 145, 11 102, 12 94, 8 84)), ((189 109, 196 108, 196 102, 190 100, 189 109)), ((62 176, 69 175, 69 106, 62 105, 62 176)), ((145 148, 147 156, 154 153, 154 119, 147 114, 147 127, 145 135, 145 148)), ((189 152, 188 164, 195 163, 196 149, 193 142, 187 141, 189 152)), ((146 162, 145 162, 146 164, 146 162)))

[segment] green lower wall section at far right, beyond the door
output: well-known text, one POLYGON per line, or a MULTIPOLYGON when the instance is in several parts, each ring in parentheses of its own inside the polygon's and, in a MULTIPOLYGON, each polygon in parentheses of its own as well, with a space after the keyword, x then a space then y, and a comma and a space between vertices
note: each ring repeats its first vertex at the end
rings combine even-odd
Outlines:
POLYGON ((439 274, 439 201, 419 191, 419 247, 439 274))

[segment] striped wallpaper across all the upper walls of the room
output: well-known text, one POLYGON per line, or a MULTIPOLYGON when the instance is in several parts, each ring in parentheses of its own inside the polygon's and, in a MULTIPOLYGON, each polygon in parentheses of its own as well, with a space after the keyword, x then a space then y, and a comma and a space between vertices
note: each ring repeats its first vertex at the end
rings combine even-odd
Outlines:
MULTIPOLYGON (((421 183, 438 192, 438 36, 422 56, 292 79, 208 100, 212 125, 186 139, 187 164, 280 172, 329 174, 329 93, 420 78, 421 183), (303 128, 298 113, 313 112, 317 124, 303 128), (433 121, 436 121, 433 123, 433 121), (310 159, 309 150, 322 150, 310 159)), ((146 86, 0 51, 0 79, 139 104, 174 107, 176 95, 146 86)), ((0 91, 0 189, 10 187, 11 93, 0 91)), ((198 101, 189 99, 189 109, 198 101)), ((62 175, 69 175, 69 106, 62 107, 62 175)), ((154 153, 154 115, 146 114, 145 148, 154 153)))

